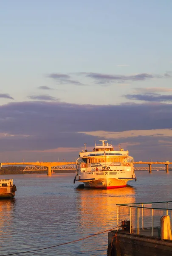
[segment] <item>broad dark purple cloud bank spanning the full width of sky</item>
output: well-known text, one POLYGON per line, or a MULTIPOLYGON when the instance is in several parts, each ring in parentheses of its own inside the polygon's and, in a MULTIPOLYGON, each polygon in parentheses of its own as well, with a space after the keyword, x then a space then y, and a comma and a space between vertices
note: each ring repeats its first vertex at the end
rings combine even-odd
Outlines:
POLYGON ((45 135, 49 125, 51 134, 100 129, 124 131, 171 128, 170 111, 172 112, 171 104, 77 105, 64 102, 15 102, 0 106, 0 118, 3 120, 2 131, 45 135), (106 121, 102 122, 104 117, 106 121), (38 127, 34 127, 36 120, 39 122, 38 127), (28 125, 30 123, 33 126, 28 125))

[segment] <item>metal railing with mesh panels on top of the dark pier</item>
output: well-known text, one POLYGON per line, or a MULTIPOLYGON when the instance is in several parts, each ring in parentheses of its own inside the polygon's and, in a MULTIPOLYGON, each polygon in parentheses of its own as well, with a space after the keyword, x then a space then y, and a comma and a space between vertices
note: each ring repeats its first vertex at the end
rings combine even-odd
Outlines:
POLYGON ((168 233, 166 237, 172 240, 172 201, 117 204, 117 226, 121 226, 118 230, 159 239, 162 239, 162 232, 165 232, 168 233), (167 230, 162 231, 164 216, 168 219, 167 230))

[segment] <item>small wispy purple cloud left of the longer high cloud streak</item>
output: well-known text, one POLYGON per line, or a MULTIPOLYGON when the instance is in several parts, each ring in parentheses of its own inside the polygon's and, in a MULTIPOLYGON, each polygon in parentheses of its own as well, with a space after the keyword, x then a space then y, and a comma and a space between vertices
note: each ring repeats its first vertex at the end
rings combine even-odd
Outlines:
POLYGON ((49 74, 48 77, 54 79, 58 84, 84 85, 79 81, 75 81, 71 79, 71 77, 66 74, 52 73, 52 74, 49 74))

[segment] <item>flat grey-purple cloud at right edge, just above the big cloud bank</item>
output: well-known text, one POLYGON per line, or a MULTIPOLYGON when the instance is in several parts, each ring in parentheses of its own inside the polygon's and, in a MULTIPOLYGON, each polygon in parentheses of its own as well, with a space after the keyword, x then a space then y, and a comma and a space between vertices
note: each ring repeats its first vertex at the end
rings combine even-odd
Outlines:
POLYGON ((158 93, 127 94, 127 95, 124 95, 124 97, 131 100, 141 100, 141 101, 147 101, 147 102, 171 102, 172 101, 172 95, 160 95, 158 93))

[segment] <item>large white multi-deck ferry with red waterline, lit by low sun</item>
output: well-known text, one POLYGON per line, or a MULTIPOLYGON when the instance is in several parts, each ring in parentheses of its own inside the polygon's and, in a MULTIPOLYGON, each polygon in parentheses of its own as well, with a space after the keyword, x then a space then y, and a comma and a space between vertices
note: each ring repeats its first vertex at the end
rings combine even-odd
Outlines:
POLYGON ((113 189, 125 187, 128 180, 135 180, 133 157, 128 151, 114 150, 111 144, 102 141, 93 151, 79 152, 76 160, 76 181, 83 182, 87 188, 113 189))

